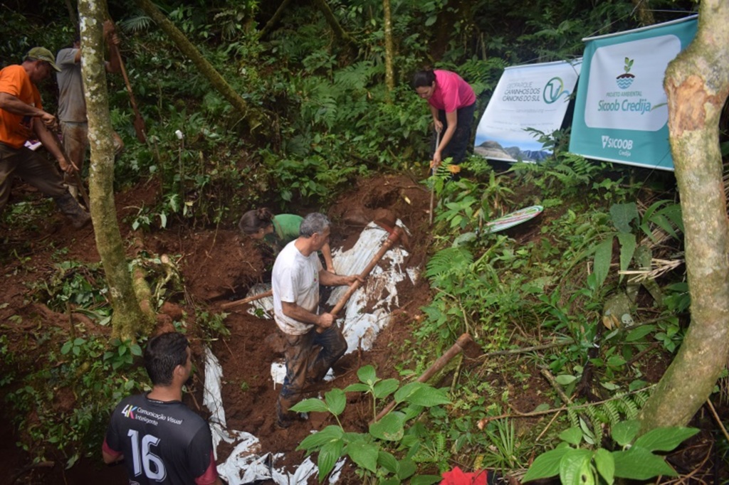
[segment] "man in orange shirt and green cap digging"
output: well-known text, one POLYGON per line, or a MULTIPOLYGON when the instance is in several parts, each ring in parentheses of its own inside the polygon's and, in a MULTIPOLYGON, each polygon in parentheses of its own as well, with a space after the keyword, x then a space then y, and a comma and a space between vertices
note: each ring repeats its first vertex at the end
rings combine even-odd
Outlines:
POLYGON ((69 194, 55 166, 44 155, 25 146, 29 138, 37 138, 58 160, 61 170, 73 173, 74 167, 66 163, 59 144, 52 138, 56 119, 43 111, 36 87, 50 76, 51 69, 59 71, 50 50, 34 47, 22 64, 0 70, 0 213, 10 197, 13 176, 20 176, 52 197, 61 213, 80 229, 91 217, 69 194))

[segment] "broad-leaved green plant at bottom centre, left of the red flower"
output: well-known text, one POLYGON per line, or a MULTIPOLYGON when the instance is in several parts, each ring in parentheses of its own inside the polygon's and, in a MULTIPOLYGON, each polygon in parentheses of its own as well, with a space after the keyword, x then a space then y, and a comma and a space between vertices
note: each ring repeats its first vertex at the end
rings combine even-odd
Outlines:
POLYGON ((409 478, 410 483, 432 484, 439 481, 439 477, 413 477, 416 466, 412 455, 423 436, 417 425, 406 425, 420 416, 424 409, 449 403, 445 393, 421 382, 410 382, 400 387, 397 379, 379 379, 372 366, 359 368, 357 376, 359 383, 345 390, 332 389, 325 393, 323 400, 305 399, 291 408, 296 412, 328 412, 337 419, 338 425, 327 426, 309 435, 297 447, 297 450, 306 450, 307 454, 319 453, 319 482, 329 475, 342 457, 349 457, 362 477, 374 478, 378 483, 399 484, 409 478), (346 407, 345 393, 348 392, 369 394, 373 399, 373 417, 378 400, 391 396, 396 403, 395 408, 370 423, 367 433, 347 432, 339 416, 346 407), (400 406, 399 410, 396 410, 397 406, 400 406), (405 457, 398 459, 393 454, 397 450, 405 452, 405 457))

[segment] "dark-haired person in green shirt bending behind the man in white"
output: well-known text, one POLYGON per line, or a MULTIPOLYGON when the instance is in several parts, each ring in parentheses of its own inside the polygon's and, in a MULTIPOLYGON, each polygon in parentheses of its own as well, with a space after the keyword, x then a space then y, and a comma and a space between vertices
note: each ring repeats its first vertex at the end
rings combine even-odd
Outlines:
MULTIPOLYGON (((244 213, 238 222, 238 229, 254 240, 266 242, 278 254, 285 245, 299 237, 299 227, 303 220, 303 217, 296 214, 274 216, 270 209, 262 207, 244 213)), ((329 242, 321 247, 321 255, 324 256, 327 271, 336 274, 329 242)))

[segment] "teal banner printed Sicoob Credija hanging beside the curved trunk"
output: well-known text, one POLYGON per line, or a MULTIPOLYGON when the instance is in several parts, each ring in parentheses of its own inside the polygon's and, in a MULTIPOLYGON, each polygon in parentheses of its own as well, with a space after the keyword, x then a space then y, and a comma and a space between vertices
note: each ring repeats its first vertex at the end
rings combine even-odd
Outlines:
POLYGON ((696 34, 697 17, 582 39, 569 151, 588 158, 674 170, 663 77, 696 34))

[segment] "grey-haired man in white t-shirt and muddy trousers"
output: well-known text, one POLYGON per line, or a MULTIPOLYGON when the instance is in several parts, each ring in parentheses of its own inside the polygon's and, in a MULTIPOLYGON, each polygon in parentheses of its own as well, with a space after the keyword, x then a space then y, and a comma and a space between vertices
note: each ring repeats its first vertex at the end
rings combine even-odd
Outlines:
POLYGON ((286 378, 278 395, 276 425, 289 427, 289 408, 300 401, 307 382, 324 379, 347 350, 347 342, 331 313, 319 315, 319 283, 351 285, 359 275, 342 276, 321 266, 316 251, 329 242, 330 221, 321 213, 304 218, 299 237, 281 250, 273 264, 273 315, 284 333, 286 378))

